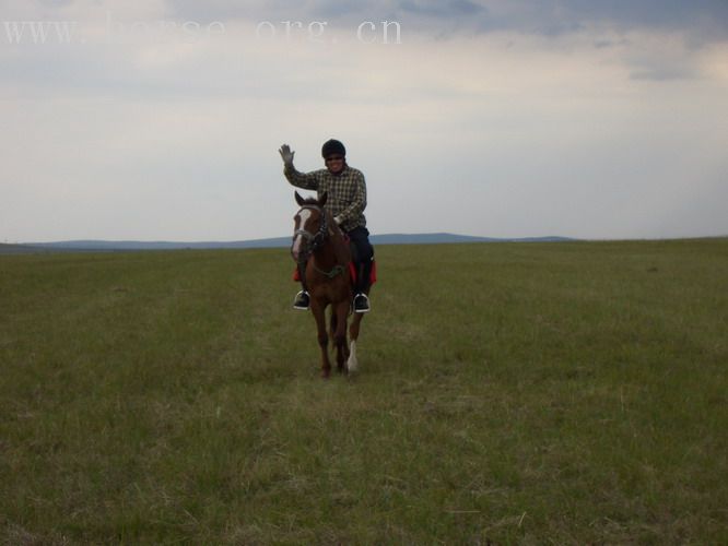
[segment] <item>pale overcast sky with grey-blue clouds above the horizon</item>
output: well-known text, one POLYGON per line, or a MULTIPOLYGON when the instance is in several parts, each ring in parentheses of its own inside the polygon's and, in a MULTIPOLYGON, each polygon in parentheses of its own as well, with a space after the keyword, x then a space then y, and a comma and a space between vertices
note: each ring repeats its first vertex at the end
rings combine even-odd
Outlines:
POLYGON ((373 234, 728 235, 728 2, 0 0, 0 119, 2 242, 290 235, 329 138, 373 234))

